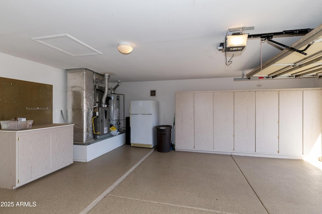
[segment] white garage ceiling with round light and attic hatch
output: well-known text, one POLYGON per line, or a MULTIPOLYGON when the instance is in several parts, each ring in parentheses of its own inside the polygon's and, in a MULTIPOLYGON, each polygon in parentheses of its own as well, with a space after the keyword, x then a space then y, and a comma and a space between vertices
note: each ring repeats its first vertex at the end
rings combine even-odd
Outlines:
MULTIPOLYGON (((254 38, 242 52, 225 55, 217 47, 228 29, 254 27, 247 34, 315 29, 321 24, 321 8, 320 0, 309 5, 306 0, 2 0, 0 52, 59 69, 109 73, 111 82, 240 78, 284 48, 254 38), (35 41, 59 35, 65 37, 46 42, 74 55, 35 41), (120 42, 131 43, 133 52, 120 54, 120 42)), ((276 41, 290 46, 301 38, 276 41)), ((0 76, 2 72, 10 71, 0 70, 0 76)))

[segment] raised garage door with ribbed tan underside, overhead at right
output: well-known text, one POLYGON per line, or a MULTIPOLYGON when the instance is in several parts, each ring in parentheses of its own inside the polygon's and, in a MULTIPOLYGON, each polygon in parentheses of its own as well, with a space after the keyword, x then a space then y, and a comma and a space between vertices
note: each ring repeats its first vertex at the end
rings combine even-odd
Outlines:
POLYGON ((307 55, 284 49, 261 66, 257 67, 246 76, 277 78, 277 77, 314 77, 322 73, 322 25, 304 35, 291 47, 305 50, 307 55))

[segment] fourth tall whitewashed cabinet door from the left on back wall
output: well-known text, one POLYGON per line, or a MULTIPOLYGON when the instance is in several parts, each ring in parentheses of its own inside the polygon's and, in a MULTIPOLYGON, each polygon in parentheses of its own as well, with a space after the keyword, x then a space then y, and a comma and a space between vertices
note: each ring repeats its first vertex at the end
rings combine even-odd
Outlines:
POLYGON ((255 152, 255 91, 234 93, 234 150, 255 152))

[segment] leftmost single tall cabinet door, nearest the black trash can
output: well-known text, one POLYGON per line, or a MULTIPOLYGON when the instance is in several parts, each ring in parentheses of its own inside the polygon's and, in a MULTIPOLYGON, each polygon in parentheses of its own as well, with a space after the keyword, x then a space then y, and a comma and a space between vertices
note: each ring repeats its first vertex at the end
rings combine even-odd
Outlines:
POLYGON ((176 148, 194 146, 194 94, 176 93, 176 148))

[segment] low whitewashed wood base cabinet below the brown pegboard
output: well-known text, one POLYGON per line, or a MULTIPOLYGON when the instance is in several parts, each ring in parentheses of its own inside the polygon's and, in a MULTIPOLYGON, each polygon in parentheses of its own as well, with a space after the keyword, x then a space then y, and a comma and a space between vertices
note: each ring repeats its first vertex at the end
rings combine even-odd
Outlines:
POLYGON ((0 130, 0 187, 14 189, 73 163, 73 125, 0 130))

